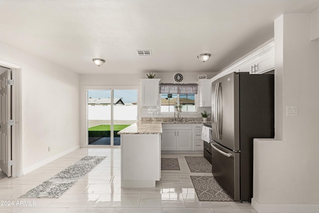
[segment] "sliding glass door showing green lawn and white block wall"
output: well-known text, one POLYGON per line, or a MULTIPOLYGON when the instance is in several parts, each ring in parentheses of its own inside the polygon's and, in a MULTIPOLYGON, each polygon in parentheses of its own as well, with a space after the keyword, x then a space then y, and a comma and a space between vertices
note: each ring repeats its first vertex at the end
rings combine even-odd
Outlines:
POLYGON ((88 90, 88 145, 119 146, 122 129, 138 118, 136 89, 88 90))

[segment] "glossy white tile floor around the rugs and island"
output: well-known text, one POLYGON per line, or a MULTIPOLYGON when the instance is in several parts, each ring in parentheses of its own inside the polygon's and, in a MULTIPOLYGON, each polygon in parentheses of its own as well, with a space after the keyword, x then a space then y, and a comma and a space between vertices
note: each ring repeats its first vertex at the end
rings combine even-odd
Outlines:
MULTIPOLYGON (((187 156, 191 156, 187 154, 187 156)), ((119 148, 84 148, 65 155, 25 176, 0 180, 1 213, 256 213, 250 204, 200 202, 181 154, 180 171, 162 171, 155 188, 121 188, 119 148), (72 165, 84 156, 107 156, 88 175, 58 199, 21 199, 21 195, 72 165), (8 206, 11 205, 11 206, 8 206)))

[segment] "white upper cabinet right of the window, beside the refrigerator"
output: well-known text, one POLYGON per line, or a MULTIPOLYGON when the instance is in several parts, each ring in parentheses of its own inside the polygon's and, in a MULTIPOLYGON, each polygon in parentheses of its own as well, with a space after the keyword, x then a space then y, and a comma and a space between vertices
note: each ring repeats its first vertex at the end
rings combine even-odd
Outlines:
POLYGON ((211 80, 198 80, 198 95, 200 107, 211 107, 211 80))

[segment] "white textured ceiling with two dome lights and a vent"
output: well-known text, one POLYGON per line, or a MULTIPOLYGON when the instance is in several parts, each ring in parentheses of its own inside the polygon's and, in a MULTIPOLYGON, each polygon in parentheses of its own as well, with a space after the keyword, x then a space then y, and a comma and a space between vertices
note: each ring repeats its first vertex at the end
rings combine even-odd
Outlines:
POLYGON ((281 14, 317 8, 319 0, 0 0, 0 40, 78 73, 218 72, 271 39, 281 14), (202 63, 201 53, 211 58, 202 63))

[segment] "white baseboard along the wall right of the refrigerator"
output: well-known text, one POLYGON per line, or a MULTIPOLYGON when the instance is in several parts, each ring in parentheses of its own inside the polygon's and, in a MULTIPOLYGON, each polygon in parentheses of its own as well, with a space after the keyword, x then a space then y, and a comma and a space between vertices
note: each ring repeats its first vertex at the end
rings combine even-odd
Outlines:
POLYGON ((318 204, 259 204, 252 199, 251 206, 258 213, 319 213, 318 204))

